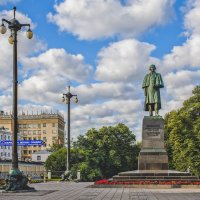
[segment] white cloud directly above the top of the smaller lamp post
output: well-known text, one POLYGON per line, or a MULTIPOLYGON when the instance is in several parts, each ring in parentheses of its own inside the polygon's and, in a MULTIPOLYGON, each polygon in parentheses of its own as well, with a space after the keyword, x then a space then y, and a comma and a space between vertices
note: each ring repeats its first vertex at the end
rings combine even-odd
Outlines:
POLYGON ((22 60, 25 68, 44 69, 68 80, 85 81, 92 74, 92 67, 84 63, 81 54, 68 54, 64 49, 49 49, 37 57, 22 60))

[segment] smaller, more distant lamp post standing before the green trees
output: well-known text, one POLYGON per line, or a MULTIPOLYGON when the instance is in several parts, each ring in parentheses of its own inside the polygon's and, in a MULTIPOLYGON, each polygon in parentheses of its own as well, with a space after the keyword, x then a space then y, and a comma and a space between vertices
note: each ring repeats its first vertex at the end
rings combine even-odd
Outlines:
POLYGON ((75 102, 78 103, 77 95, 74 95, 70 92, 70 86, 68 86, 68 92, 63 94, 63 102, 68 105, 68 119, 67 119, 67 163, 66 163, 66 173, 70 172, 70 101, 72 97, 76 97, 75 102))

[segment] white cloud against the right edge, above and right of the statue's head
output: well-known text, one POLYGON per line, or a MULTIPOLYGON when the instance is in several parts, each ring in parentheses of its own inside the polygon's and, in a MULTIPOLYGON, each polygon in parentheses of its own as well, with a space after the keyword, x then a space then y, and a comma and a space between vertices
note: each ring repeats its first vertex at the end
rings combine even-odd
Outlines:
POLYGON ((175 46, 170 54, 164 56, 164 71, 185 68, 200 67, 200 2, 190 1, 190 9, 186 12, 184 18, 186 42, 181 46, 175 46))

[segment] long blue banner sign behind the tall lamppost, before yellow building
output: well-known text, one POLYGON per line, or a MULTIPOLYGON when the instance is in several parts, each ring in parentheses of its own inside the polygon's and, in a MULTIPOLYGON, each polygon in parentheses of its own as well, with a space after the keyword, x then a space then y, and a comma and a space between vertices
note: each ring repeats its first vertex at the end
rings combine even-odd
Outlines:
MULTIPOLYGON (((42 140, 17 140, 17 146, 42 146, 42 140)), ((0 146, 12 146, 12 140, 0 140, 0 146)))

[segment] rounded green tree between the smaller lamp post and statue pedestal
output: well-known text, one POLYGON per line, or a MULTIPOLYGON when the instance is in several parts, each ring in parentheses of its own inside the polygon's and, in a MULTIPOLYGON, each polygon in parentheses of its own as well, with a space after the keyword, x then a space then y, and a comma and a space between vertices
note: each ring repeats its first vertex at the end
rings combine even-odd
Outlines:
POLYGON ((77 146, 85 152, 79 167, 84 180, 109 178, 122 171, 137 169, 140 145, 124 124, 90 129, 79 136, 77 146))

